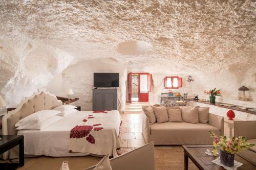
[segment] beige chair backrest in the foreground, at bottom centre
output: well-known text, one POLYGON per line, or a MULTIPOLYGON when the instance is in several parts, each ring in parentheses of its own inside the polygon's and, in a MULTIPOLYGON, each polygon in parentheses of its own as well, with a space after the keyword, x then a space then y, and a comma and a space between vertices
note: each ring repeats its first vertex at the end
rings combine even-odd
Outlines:
MULTIPOLYGON (((155 170, 154 143, 148 143, 133 151, 110 159, 112 170, 155 170)), ((96 165, 84 170, 92 170, 96 165)))

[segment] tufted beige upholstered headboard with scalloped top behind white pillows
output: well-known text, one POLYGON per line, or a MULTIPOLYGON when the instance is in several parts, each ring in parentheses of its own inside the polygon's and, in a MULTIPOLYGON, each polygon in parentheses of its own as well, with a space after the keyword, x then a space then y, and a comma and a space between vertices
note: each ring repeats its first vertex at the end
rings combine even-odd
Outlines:
POLYGON ((19 106, 3 117, 3 135, 16 135, 15 124, 22 118, 40 110, 53 109, 62 105, 56 96, 40 91, 22 101, 19 106))

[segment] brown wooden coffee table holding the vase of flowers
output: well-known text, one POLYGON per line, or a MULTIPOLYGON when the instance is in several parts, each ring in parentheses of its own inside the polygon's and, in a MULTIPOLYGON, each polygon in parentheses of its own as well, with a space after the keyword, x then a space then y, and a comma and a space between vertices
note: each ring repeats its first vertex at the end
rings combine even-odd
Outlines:
MULTIPOLYGON (((212 160, 215 160, 219 155, 217 156, 209 156, 206 155, 204 152, 206 149, 209 149, 210 151, 213 149, 213 145, 182 145, 182 148, 184 149, 184 169, 188 169, 188 158, 199 168, 199 169, 210 169, 210 170, 223 170, 222 166, 219 166, 215 163, 212 163, 212 160)), ((219 148, 218 148, 218 152, 219 148)), ((249 161, 245 160, 239 155, 234 156, 234 160, 243 163, 242 166, 240 166, 239 170, 252 170, 256 169, 256 166, 254 166, 249 161)))

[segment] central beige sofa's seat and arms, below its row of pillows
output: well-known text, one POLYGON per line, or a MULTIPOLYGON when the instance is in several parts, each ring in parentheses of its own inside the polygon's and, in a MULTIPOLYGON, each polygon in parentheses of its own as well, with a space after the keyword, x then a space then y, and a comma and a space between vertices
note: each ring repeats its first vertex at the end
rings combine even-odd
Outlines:
POLYGON ((209 137, 209 131, 217 135, 223 134, 224 118, 209 113, 207 124, 186 122, 150 124, 145 113, 142 114, 142 134, 147 143, 154 141, 155 145, 212 144, 213 140, 209 137))

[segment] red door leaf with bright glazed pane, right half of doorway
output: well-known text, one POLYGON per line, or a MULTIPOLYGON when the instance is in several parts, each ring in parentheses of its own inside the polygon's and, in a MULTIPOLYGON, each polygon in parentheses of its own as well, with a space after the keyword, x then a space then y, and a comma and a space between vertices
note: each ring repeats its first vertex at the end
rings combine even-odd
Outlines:
POLYGON ((151 91, 152 75, 139 73, 139 102, 148 102, 148 92, 151 91))

